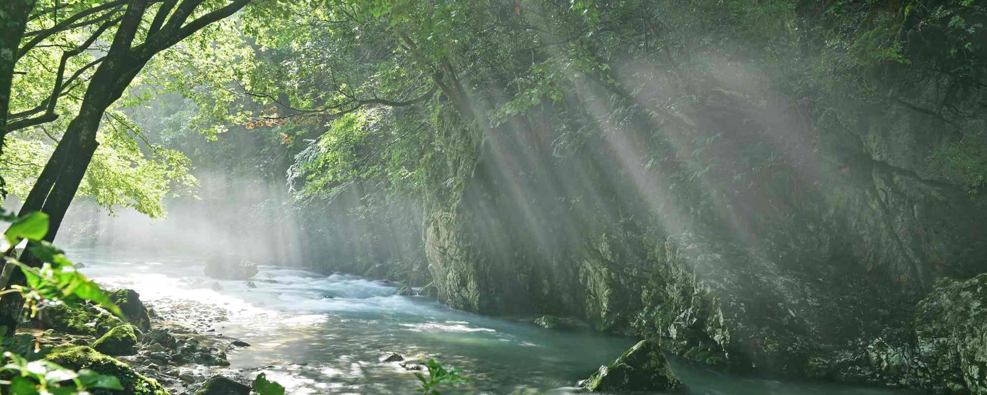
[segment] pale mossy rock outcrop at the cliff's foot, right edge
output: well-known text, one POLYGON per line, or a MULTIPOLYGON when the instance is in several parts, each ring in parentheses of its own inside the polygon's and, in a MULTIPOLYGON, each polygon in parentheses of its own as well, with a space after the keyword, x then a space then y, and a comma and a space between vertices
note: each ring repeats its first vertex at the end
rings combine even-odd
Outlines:
POLYGON ((987 394, 987 273, 940 278, 915 312, 918 359, 937 392, 987 394))

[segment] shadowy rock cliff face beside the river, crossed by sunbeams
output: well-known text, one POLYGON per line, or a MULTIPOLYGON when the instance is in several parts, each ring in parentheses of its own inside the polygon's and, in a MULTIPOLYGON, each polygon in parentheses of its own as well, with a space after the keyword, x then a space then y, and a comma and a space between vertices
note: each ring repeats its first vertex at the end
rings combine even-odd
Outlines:
MULTIPOLYGON (((935 44, 910 34, 935 29, 921 21, 900 22, 906 53, 935 44)), ((837 88, 794 93, 765 71, 785 65, 705 55, 719 68, 702 83, 664 63, 622 74, 693 98, 674 110, 587 88, 465 134, 471 171, 445 173, 458 195, 431 197, 425 218, 440 299, 577 315, 734 368, 983 393, 978 352, 936 352, 958 332, 923 328, 961 326, 928 307, 945 297, 937 278, 987 272, 985 200, 944 154, 982 145, 987 89, 957 95, 967 77, 927 56, 885 68, 876 98, 838 95, 857 88, 833 75, 837 88), (565 109, 602 128, 569 155, 565 109)))

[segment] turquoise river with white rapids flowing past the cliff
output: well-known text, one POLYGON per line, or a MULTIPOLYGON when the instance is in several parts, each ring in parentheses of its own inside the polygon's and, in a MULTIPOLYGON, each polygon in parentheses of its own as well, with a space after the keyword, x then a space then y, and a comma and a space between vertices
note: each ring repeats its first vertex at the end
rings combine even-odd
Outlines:
MULTIPOLYGON (((631 339, 556 332, 530 320, 465 313, 418 296, 397 296, 384 281, 262 267, 243 281, 202 276, 201 260, 101 249, 70 250, 101 283, 134 288, 144 300, 189 299, 230 311, 218 333, 252 347, 230 353, 230 368, 258 368, 289 394, 413 394, 418 380, 391 353, 434 358, 472 379, 461 393, 573 393, 578 379, 632 346, 631 339), (262 370, 263 369, 263 370, 262 370)), ((737 377, 673 362, 682 394, 902 394, 874 388, 737 377)), ((447 393, 447 392, 444 392, 447 393)))

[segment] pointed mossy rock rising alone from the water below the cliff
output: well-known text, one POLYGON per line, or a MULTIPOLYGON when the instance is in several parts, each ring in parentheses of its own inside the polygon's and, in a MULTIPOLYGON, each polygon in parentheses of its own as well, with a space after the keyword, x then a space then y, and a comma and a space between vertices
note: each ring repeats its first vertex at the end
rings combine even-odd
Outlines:
POLYGON ((643 340, 582 382, 590 391, 660 391, 682 387, 657 343, 643 340))

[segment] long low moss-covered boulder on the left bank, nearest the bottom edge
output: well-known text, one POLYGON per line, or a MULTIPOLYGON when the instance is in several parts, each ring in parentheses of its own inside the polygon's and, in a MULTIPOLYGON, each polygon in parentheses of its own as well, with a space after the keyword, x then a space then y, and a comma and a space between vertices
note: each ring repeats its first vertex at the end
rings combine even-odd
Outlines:
POLYGON ((44 357, 72 369, 92 369, 119 379, 122 390, 91 389, 93 395, 168 395, 157 380, 135 372, 130 366, 86 346, 57 348, 44 357))

